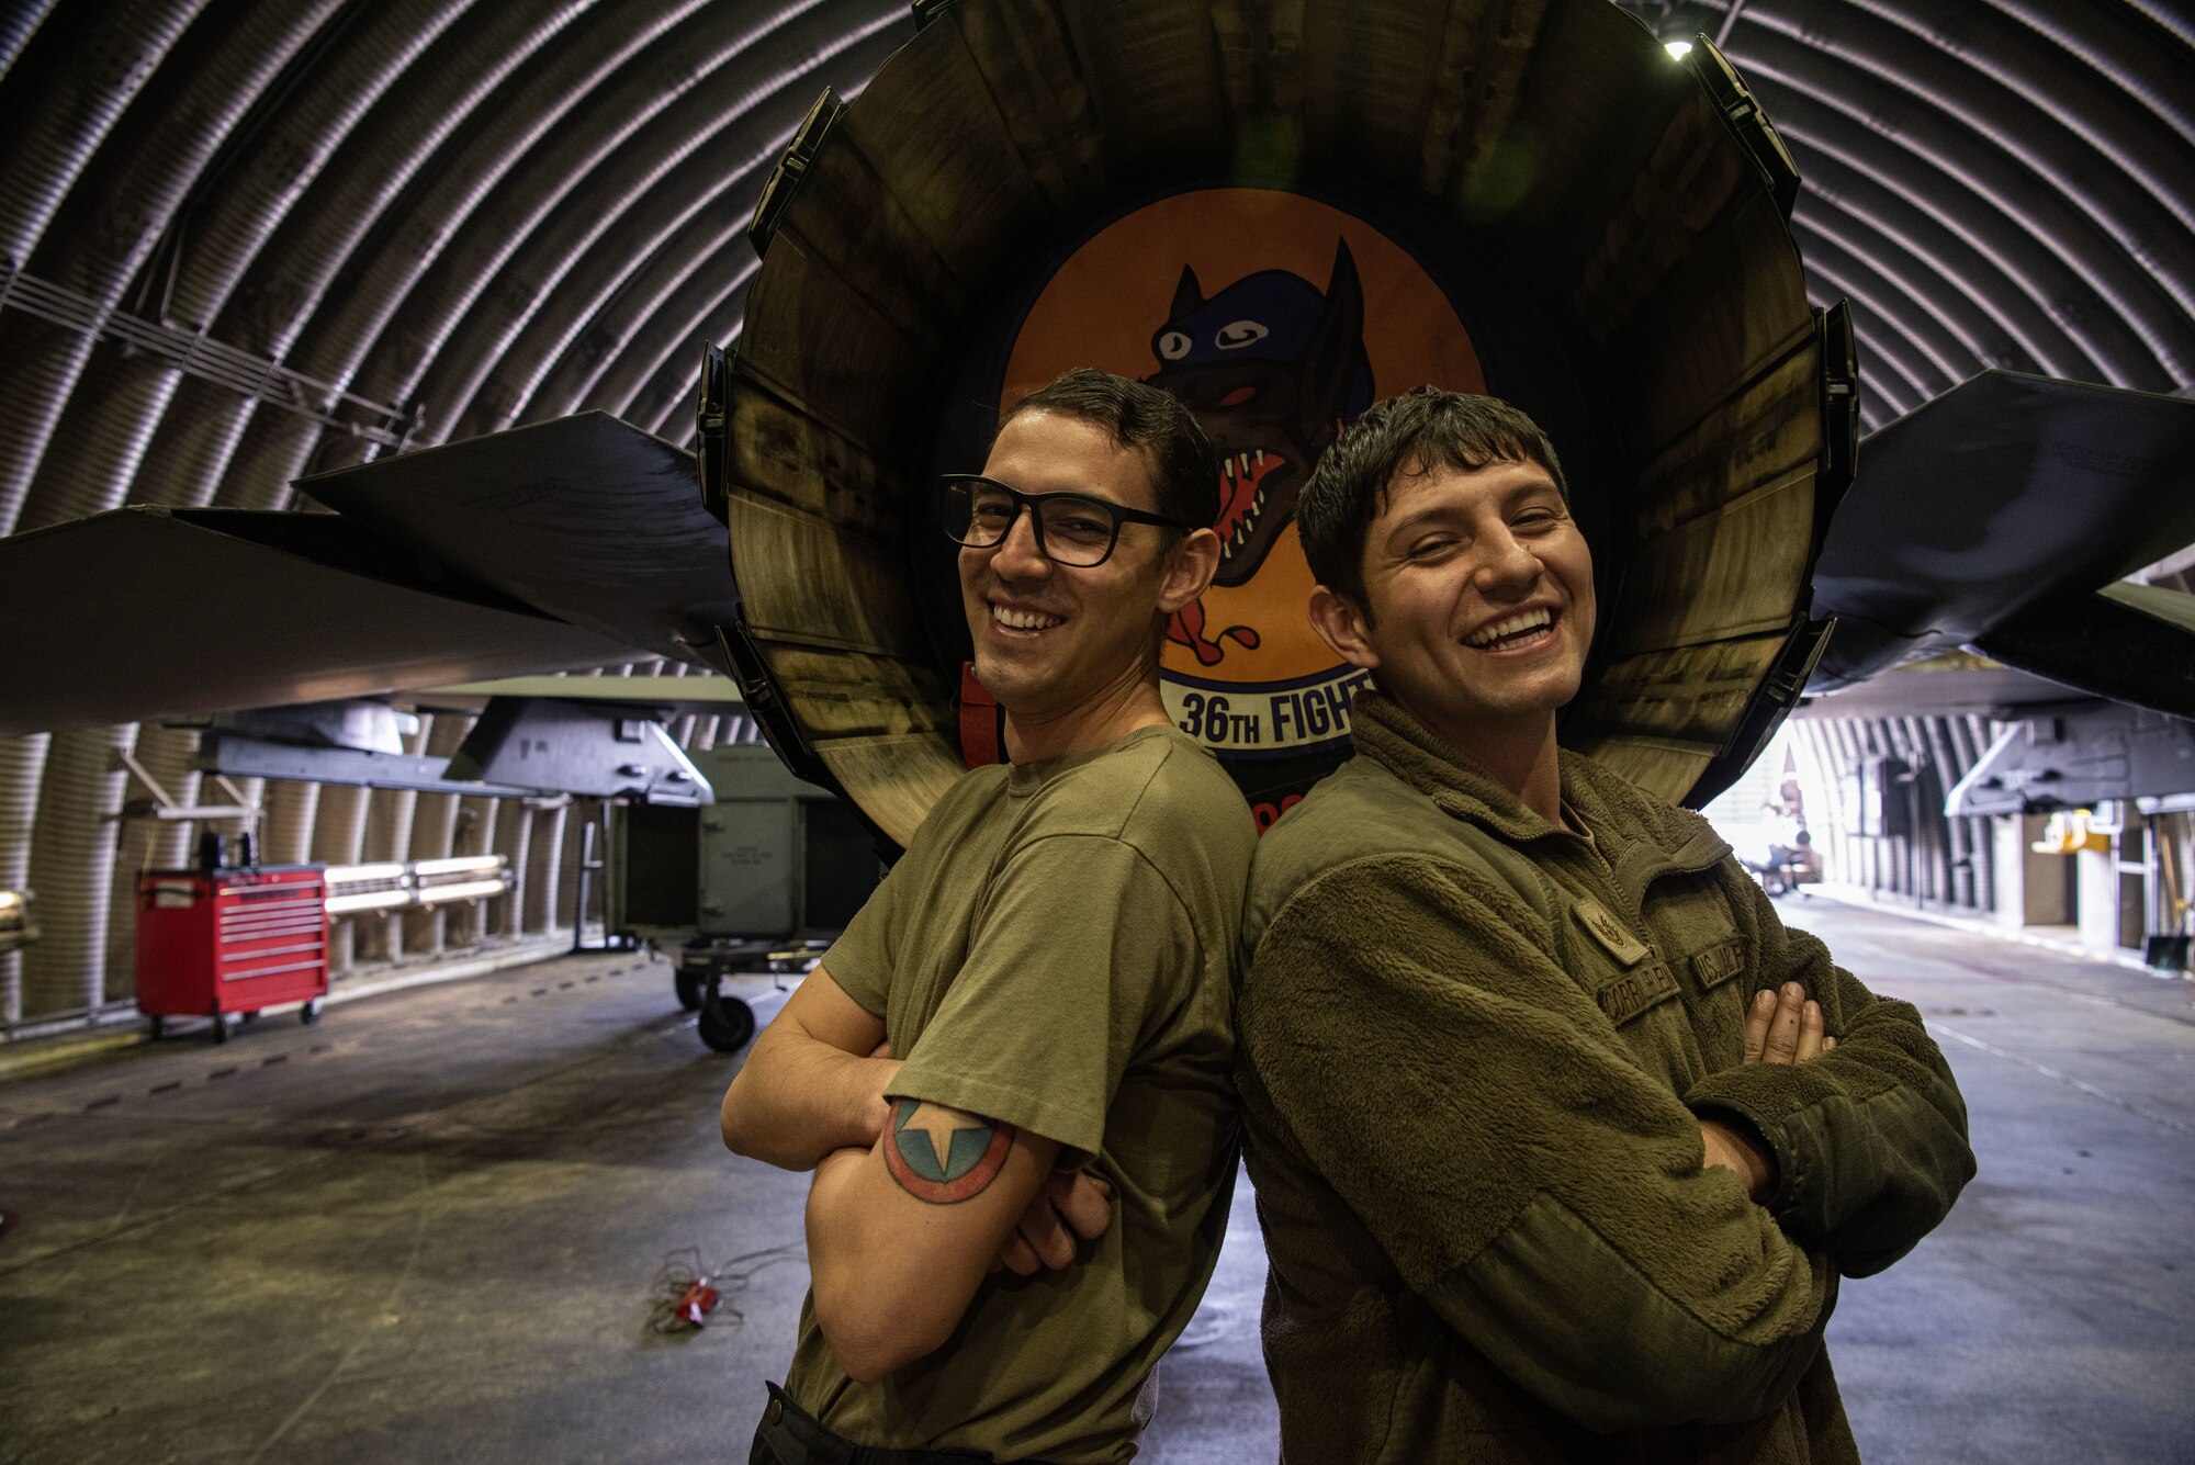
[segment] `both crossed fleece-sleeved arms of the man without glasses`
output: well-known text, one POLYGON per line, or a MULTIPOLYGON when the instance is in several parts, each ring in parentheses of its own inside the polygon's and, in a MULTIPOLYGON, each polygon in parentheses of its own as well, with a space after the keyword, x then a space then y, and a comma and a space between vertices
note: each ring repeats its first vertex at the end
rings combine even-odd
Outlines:
POLYGON ((1681 1099, 1594 1037, 1532 910, 1438 860, 1306 886, 1238 1007, 1264 1103, 1411 1290, 1589 1428, 1758 1417, 1837 1274, 1888 1265, 1971 1173, 1918 1013, 1738 915, 1776 989, 1747 1009, 1758 1061, 1681 1099))

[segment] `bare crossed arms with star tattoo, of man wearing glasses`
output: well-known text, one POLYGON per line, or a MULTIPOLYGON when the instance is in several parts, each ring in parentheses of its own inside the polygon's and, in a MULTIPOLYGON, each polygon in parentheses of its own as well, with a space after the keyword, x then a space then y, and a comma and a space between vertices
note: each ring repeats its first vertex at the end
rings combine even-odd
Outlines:
POLYGON ((944 1344, 986 1272, 1065 1268, 1111 1224, 1102 1182, 1054 1173, 1054 1140, 891 1097, 898 1072, 882 1020, 817 967, 720 1110, 733 1151, 814 1169, 817 1322, 858 1382, 944 1344))

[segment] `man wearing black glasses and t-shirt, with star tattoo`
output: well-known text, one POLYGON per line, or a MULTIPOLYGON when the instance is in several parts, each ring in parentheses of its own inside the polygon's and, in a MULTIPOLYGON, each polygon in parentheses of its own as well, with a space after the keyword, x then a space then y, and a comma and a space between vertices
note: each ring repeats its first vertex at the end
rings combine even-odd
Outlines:
POLYGON ((944 485, 1012 761, 937 803, 724 1094, 727 1145, 814 1169, 757 1463, 1135 1452, 1234 1184, 1256 827, 1159 700, 1216 513, 1194 417, 1100 371, 944 485))

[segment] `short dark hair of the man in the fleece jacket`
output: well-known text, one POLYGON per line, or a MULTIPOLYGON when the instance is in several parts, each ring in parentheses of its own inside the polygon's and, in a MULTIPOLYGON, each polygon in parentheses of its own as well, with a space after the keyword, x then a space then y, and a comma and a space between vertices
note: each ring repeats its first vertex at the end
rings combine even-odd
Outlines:
POLYGON ((1319 456, 1295 500, 1295 524, 1313 579, 1339 590, 1359 610, 1370 610, 1365 533, 1387 509, 1394 480, 1440 467, 1468 474, 1493 463, 1539 463, 1563 500, 1569 500, 1554 443, 1539 423, 1499 397, 1418 386, 1374 401, 1319 456))

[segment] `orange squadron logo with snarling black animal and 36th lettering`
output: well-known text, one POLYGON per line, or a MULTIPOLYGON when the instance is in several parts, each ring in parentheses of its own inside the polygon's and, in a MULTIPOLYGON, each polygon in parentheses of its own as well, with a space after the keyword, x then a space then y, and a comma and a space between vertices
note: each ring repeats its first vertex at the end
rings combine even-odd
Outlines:
POLYGON ((1422 382, 1486 390, 1455 305, 1341 208, 1198 189, 1115 219, 1060 263, 1010 344, 1001 410, 1069 366, 1163 386, 1220 456, 1220 568, 1166 632, 1174 722, 1223 759, 1343 743, 1370 678, 1310 629, 1295 498, 1378 397, 1422 382))

